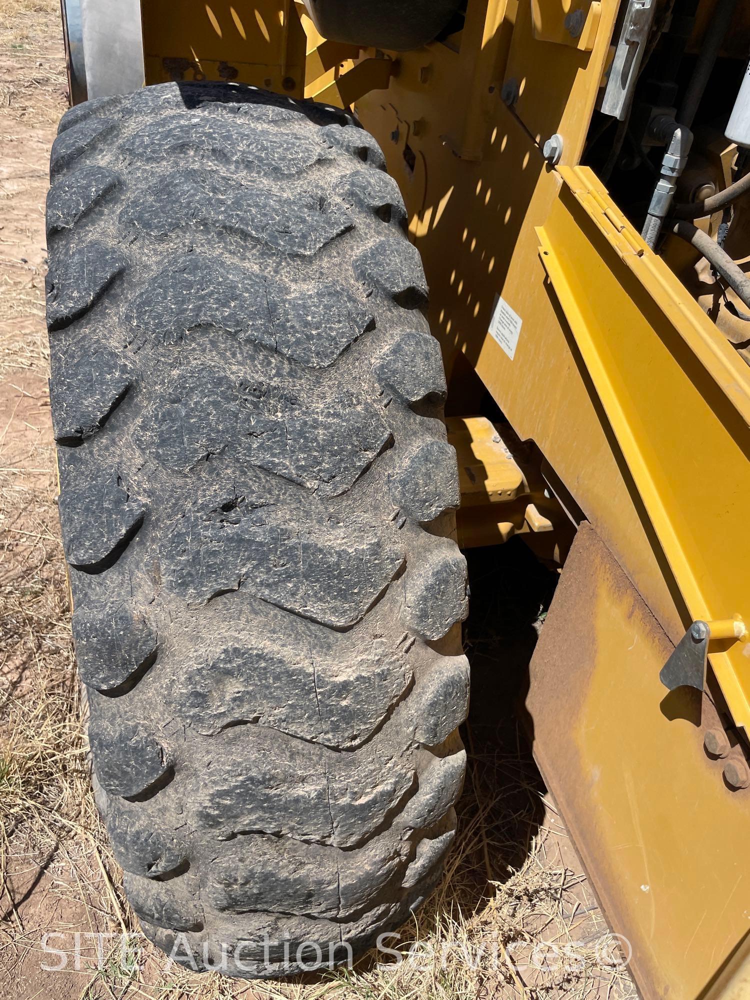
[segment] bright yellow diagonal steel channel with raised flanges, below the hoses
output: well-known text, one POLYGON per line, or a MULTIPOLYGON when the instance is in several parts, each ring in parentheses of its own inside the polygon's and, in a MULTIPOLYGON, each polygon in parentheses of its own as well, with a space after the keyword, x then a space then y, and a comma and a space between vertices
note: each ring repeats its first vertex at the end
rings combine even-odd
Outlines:
MULTIPOLYGON (((561 174, 540 254, 581 362, 689 619, 748 622, 750 368, 594 175, 561 174)), ((709 659, 750 733, 750 645, 712 641, 709 659)))

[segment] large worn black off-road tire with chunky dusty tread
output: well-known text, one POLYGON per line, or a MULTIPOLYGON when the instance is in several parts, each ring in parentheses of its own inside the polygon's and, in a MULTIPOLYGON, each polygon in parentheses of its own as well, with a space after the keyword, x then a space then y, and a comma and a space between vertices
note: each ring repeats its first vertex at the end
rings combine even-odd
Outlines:
POLYGON ((213 84, 74 108, 51 174, 60 520, 128 897, 198 967, 346 960, 431 891, 464 771, 456 460, 398 188, 350 117, 213 84))

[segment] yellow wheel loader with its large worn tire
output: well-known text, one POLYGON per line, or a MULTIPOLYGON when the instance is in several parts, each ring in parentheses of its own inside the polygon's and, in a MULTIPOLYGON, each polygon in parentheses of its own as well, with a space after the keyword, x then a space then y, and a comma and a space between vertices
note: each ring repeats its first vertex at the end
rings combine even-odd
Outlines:
POLYGON ((50 395, 144 933, 351 960, 437 884, 461 549, 645 998, 750 995, 750 5, 63 0, 50 395), (304 683, 303 683, 304 681, 304 683))

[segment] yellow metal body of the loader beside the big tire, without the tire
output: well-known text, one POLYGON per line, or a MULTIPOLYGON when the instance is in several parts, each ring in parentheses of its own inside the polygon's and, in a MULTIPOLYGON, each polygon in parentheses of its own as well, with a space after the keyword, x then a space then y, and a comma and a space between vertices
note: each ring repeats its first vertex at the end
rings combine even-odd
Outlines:
MULTIPOLYGON (((543 774, 641 992, 734 996, 748 981, 750 789, 727 785, 703 740, 726 728, 744 757, 750 644, 717 630, 697 702, 659 670, 691 622, 750 623, 750 367, 580 165, 619 6, 468 0, 456 34, 387 53, 321 38, 291 2, 185 3, 175 18, 150 0, 146 82, 353 105, 379 141, 453 398, 473 370, 542 459, 523 467, 481 418, 449 422, 462 543, 519 533, 563 561, 583 518, 532 661, 543 774)), ((698 34, 711 11, 701 3, 698 34)), ((736 20, 730 37, 745 38, 742 4, 736 20)))

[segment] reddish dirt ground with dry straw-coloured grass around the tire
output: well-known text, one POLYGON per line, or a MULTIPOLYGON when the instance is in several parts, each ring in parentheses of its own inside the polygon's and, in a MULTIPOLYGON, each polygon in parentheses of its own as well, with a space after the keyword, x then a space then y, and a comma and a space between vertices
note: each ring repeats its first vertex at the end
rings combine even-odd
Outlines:
POLYGON ((44 202, 66 105, 58 3, 0 0, 0 996, 635 996, 512 712, 554 587, 520 543, 470 559, 459 833, 403 961, 259 985, 194 975, 138 937, 89 789, 58 539, 44 202))

